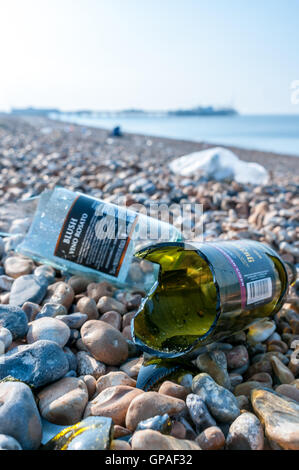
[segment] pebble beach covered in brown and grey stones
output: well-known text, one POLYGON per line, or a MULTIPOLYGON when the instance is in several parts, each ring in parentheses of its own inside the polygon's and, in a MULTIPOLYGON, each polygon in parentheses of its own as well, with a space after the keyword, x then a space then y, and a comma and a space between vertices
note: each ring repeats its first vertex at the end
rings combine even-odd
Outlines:
POLYGON ((139 284, 90 282, 15 252, 30 224, 17 202, 63 186, 127 207, 202 204, 205 241, 265 242, 298 273, 299 159, 230 147, 269 171, 257 186, 170 172, 209 147, 0 116, 0 450, 299 450, 298 280, 274 317, 198 355, 196 374, 143 391, 130 327, 139 284), (55 425, 77 428, 47 444, 55 425))

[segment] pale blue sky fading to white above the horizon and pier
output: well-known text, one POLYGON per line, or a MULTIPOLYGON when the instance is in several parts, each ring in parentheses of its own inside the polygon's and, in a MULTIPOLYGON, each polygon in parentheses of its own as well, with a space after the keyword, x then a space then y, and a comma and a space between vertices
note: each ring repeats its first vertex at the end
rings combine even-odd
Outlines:
POLYGON ((0 109, 299 113, 298 0, 0 0, 0 109))

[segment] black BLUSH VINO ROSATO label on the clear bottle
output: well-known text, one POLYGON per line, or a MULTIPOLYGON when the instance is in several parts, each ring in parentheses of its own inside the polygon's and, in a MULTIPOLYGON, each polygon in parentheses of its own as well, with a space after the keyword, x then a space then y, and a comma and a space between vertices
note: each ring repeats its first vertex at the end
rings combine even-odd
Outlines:
POLYGON ((79 195, 60 231, 54 255, 117 277, 137 214, 79 195))

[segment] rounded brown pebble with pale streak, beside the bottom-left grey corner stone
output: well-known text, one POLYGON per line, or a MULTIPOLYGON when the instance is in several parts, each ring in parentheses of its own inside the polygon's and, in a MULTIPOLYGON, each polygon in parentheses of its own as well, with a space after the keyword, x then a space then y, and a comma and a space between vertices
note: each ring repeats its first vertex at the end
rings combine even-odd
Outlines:
POLYGON ((50 423, 70 425, 81 420, 88 402, 88 390, 81 379, 67 377, 38 393, 41 416, 50 423))

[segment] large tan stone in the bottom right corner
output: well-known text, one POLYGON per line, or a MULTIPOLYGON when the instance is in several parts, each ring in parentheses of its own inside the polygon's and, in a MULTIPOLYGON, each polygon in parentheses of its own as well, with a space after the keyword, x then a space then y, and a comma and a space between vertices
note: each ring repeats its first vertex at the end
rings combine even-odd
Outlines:
POLYGON ((299 450, 299 405, 267 390, 253 390, 253 409, 274 448, 299 450))

